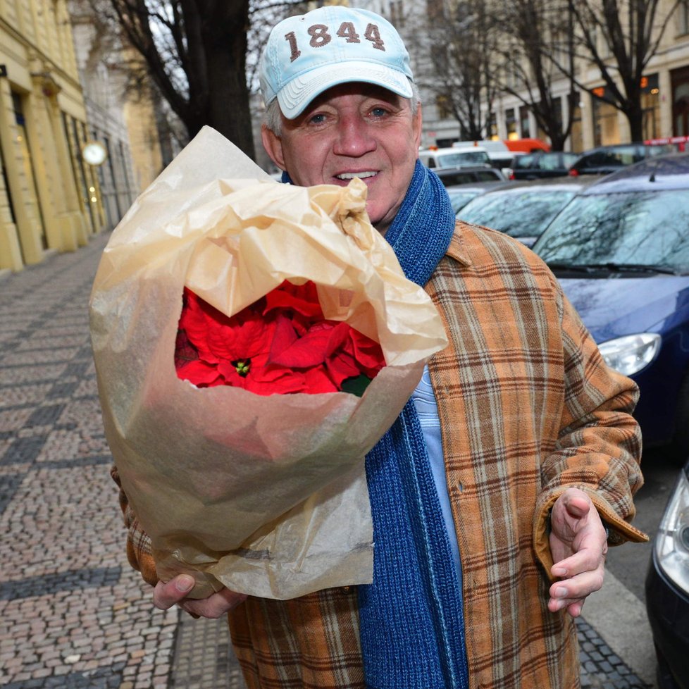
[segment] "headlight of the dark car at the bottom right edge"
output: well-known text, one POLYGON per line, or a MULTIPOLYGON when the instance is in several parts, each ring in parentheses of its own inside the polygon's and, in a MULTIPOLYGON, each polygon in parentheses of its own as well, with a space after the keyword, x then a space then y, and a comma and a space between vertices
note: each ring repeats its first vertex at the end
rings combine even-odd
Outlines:
POLYGON ((660 569, 689 592, 689 481, 684 471, 665 508, 654 547, 660 569))

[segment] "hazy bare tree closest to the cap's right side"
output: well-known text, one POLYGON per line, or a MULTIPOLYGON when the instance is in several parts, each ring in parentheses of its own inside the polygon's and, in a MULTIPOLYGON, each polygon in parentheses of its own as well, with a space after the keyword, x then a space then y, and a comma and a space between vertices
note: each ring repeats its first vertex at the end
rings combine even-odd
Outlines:
POLYGON ((419 73, 443 108, 457 119, 462 139, 490 135, 495 99, 491 59, 495 25, 482 0, 428 4, 428 30, 419 73), (483 107, 482 107, 483 106, 483 107))

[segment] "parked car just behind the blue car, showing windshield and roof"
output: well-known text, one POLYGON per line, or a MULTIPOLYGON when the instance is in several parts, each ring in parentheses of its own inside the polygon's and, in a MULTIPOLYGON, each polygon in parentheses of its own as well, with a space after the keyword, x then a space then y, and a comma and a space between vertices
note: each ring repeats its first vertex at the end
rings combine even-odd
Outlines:
POLYGON ((512 182, 469 201, 459 218, 506 232, 530 247, 552 219, 590 182, 561 180, 512 182))

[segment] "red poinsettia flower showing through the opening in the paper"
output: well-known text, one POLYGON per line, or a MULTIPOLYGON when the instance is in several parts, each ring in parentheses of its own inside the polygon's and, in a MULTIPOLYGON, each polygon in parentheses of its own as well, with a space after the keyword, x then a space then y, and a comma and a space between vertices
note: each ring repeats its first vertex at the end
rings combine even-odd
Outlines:
POLYGON ((324 318, 310 281, 285 280, 231 318, 185 289, 179 328, 175 367, 198 387, 361 395, 385 366, 378 342, 324 318))

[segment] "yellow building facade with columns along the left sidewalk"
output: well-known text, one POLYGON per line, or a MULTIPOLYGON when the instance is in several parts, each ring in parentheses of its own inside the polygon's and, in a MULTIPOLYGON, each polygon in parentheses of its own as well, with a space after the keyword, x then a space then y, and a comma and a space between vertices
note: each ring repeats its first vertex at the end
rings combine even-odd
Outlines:
POLYGON ((0 0, 0 270, 104 226, 66 0, 0 0))

